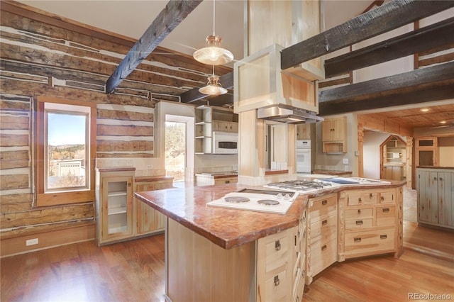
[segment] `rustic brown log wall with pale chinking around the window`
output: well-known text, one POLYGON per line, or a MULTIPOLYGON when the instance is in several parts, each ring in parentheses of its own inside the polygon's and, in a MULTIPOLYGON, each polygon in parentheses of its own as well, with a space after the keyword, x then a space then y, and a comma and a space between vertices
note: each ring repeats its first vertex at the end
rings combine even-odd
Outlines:
MULTIPOLYGON (((114 94, 106 95, 106 80, 135 40, 51 17, 15 2, 1 4, 1 256, 4 240, 62 228, 74 233, 94 221, 93 202, 33 205, 33 97, 96 102, 96 157, 153 157, 155 102, 179 101, 179 94, 202 86, 211 72, 158 48, 160 54, 152 53, 114 94)), ((94 228, 87 230, 93 238, 94 228)), ((50 245, 78 239, 65 240, 50 245)))

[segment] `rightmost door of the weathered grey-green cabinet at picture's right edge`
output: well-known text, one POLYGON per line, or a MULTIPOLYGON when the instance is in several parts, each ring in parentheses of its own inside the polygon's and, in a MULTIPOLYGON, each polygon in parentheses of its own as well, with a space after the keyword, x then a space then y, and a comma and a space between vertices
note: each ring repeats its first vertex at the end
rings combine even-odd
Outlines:
POLYGON ((438 172, 438 223, 454 226, 454 173, 438 172))

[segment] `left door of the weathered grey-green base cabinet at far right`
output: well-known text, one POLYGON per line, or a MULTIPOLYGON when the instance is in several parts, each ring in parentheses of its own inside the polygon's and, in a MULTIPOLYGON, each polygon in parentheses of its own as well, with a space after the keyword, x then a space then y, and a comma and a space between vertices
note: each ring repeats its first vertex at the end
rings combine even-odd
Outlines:
POLYGON ((438 173, 418 173, 418 220, 438 223, 438 173))

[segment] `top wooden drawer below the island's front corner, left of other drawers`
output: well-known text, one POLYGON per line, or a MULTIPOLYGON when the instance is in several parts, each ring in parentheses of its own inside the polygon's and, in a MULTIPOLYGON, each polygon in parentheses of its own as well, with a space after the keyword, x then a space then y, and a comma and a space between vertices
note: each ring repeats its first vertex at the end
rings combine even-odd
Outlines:
POLYGON ((265 244, 265 273, 287 264, 289 252, 289 237, 287 232, 281 232, 266 237, 265 244))

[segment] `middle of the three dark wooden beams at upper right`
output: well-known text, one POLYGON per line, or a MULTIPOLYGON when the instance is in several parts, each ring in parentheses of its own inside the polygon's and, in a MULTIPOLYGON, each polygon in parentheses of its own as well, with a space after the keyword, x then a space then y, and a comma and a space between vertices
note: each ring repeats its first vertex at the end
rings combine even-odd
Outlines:
POLYGON ((325 61, 327 78, 454 43, 454 18, 325 61))

